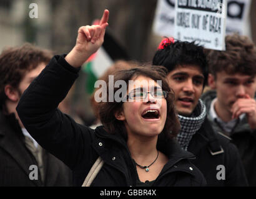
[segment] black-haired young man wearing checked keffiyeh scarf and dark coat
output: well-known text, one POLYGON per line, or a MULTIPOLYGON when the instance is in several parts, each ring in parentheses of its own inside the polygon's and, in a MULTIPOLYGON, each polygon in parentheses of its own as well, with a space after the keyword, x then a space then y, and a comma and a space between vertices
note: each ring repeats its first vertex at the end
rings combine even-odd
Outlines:
POLYGON ((205 104, 199 99, 208 76, 203 50, 195 42, 166 38, 153 58, 153 65, 162 65, 169 71, 167 80, 175 92, 181 124, 177 141, 195 155, 192 163, 204 174, 208 186, 247 186, 237 147, 210 126, 205 104))

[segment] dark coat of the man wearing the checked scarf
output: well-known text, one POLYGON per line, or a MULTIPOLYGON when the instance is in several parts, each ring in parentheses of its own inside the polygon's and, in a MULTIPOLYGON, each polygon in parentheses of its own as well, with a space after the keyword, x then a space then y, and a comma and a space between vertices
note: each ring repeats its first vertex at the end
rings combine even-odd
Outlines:
POLYGON ((248 186, 237 147, 226 136, 215 133, 208 119, 192 137, 188 151, 197 157, 192 163, 204 174, 208 186, 248 186), (224 168, 225 180, 218 180, 217 173, 220 175, 224 168))

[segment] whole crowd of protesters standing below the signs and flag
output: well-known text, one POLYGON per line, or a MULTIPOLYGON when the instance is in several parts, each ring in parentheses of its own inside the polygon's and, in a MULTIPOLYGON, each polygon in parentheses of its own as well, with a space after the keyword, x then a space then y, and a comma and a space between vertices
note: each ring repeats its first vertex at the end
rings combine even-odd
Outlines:
POLYGON ((93 126, 62 113, 108 20, 80 27, 67 55, 1 52, 0 187, 255 186, 256 47, 244 35, 223 51, 166 37, 152 64, 121 60, 99 78, 93 126))

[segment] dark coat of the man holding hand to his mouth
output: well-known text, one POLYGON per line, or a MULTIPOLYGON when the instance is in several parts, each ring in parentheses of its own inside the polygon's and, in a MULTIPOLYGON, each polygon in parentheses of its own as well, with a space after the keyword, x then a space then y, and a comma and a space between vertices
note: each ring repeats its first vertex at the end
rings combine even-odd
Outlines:
MULTIPOLYGON (((209 113, 210 103, 213 99, 217 97, 216 91, 209 90, 204 95, 202 95, 202 100, 206 105, 206 109, 209 113)), ((256 96, 255 96, 256 99, 256 96)), ((228 134, 222 129, 217 122, 207 115, 210 124, 214 128, 214 131, 221 132, 222 134, 228 134)), ((242 159, 242 164, 244 165, 245 174, 249 182, 249 186, 256 186, 256 129, 251 129, 247 118, 244 117, 239 121, 229 132, 230 139, 232 143, 237 146, 239 150, 240 157, 242 159)))

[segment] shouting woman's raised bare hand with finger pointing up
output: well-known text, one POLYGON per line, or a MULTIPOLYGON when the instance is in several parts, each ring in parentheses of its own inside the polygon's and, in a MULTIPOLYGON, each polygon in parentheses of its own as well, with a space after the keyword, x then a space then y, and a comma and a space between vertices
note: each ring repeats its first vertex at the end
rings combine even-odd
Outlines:
POLYGON ((109 21, 109 11, 105 10, 99 25, 86 25, 78 30, 76 45, 65 57, 72 67, 81 67, 104 42, 104 35, 109 21))

